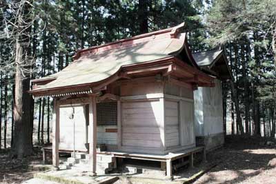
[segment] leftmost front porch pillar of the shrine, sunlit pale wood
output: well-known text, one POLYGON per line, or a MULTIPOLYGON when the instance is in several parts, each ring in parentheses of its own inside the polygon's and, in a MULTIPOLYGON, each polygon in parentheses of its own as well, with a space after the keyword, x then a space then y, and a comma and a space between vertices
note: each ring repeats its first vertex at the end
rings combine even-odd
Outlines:
POLYGON ((52 113, 52 165, 59 169, 59 100, 54 99, 52 113))

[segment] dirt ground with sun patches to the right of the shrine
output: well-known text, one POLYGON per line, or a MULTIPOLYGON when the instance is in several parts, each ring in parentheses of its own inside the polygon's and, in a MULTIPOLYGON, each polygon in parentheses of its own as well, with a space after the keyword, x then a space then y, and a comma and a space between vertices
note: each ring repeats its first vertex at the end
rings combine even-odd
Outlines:
POLYGON ((264 146, 261 139, 226 139, 226 146, 208 154, 217 166, 194 184, 276 183, 275 146, 264 146))

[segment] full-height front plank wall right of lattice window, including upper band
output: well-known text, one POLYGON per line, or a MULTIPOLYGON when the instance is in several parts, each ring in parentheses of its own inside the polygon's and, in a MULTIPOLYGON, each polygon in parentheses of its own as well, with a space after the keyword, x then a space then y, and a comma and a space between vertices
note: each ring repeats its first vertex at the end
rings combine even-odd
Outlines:
POLYGON ((121 149, 130 152, 164 152, 164 87, 155 77, 121 83, 121 149), (124 97, 126 97, 124 99, 124 97))

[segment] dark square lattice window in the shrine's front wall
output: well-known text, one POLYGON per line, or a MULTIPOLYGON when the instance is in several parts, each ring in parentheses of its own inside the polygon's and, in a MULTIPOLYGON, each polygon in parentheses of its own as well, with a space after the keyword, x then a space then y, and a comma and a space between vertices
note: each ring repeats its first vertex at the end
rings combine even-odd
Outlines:
POLYGON ((117 101, 97 103, 97 125, 117 125, 117 101))

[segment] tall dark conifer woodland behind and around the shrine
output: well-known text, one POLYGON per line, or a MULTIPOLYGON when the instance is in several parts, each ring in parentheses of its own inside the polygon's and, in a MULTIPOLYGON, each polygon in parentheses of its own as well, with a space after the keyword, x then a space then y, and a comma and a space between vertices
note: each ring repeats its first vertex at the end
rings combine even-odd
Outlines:
POLYGON ((79 49, 185 22, 193 52, 224 49, 227 134, 275 136, 275 0, 0 0, 0 149, 50 143, 52 99, 30 79, 59 72, 79 49))

